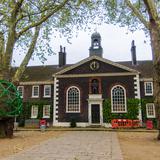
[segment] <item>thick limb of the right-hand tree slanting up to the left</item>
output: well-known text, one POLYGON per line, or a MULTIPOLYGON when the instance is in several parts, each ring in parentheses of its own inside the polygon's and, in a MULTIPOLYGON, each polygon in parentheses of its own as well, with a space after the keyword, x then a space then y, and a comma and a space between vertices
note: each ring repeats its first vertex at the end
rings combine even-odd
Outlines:
POLYGON ((135 16, 137 16, 137 18, 143 23, 143 25, 147 28, 150 29, 150 25, 149 22, 144 18, 144 16, 142 15, 142 13, 133 6, 133 4, 131 3, 130 0, 125 0, 127 6, 132 10, 132 12, 135 14, 135 16))

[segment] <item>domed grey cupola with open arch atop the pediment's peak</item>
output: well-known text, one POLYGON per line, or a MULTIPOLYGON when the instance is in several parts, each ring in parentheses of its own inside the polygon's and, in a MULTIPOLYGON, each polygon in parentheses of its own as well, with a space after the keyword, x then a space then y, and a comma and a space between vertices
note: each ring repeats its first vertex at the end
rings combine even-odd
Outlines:
POLYGON ((89 48, 89 56, 102 57, 103 48, 101 47, 101 36, 98 32, 95 32, 91 36, 91 47, 89 48))

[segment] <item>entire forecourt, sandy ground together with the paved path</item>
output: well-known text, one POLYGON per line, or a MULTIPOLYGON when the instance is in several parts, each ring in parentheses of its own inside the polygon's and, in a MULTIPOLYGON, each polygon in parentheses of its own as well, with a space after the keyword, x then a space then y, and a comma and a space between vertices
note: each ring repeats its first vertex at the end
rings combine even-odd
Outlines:
POLYGON ((159 160, 156 136, 151 132, 20 131, 13 139, 0 139, 0 159, 159 160))

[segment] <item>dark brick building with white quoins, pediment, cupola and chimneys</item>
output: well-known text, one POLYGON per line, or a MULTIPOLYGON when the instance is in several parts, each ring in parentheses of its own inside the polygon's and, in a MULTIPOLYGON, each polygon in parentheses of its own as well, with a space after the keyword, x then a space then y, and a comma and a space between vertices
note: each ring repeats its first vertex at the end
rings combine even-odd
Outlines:
POLYGON ((154 119, 152 61, 136 60, 134 41, 131 57, 131 61, 124 62, 103 58, 97 32, 91 37, 89 57, 76 64, 66 64, 65 48, 61 47, 59 65, 26 69, 18 89, 24 103, 31 103, 27 119, 44 118, 53 126, 69 126, 72 120, 77 126, 107 126, 104 101, 110 103, 108 114, 120 118, 129 111, 128 99, 140 100, 138 119, 154 119), (143 110, 142 99, 149 99, 143 110))

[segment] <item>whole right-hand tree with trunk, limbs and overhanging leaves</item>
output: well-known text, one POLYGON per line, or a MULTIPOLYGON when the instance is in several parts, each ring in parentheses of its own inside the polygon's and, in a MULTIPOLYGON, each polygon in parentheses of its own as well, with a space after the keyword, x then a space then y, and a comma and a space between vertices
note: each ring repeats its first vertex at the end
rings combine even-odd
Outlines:
POLYGON ((107 23, 119 23, 131 30, 143 29, 151 39, 154 66, 154 103, 160 140, 160 1, 106 0, 103 1, 107 23))

